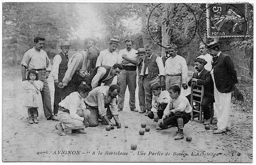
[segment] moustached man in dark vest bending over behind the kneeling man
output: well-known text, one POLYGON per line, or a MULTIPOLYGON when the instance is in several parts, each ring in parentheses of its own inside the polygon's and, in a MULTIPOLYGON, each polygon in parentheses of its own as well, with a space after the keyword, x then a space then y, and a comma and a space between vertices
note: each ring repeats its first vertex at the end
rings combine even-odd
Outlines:
MULTIPOLYGON (((113 67, 107 65, 101 65, 97 68, 94 68, 90 75, 89 80, 91 80, 92 89, 100 86, 101 83, 104 85, 112 85, 112 81, 116 75, 118 75, 124 68, 121 64, 114 64, 113 67)), ((85 81, 86 84, 90 84, 88 80, 85 81)))

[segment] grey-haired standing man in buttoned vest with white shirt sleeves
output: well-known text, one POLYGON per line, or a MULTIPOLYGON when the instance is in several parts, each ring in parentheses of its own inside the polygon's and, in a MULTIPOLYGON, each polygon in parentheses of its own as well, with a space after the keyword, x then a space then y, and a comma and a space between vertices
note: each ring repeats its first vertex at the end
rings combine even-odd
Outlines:
POLYGON ((146 57, 142 63, 140 72, 140 86, 144 80, 144 90, 146 95, 146 107, 147 112, 152 108, 152 92, 150 86, 154 83, 160 83, 161 87, 164 87, 164 64, 158 55, 153 53, 153 47, 147 45, 146 57))

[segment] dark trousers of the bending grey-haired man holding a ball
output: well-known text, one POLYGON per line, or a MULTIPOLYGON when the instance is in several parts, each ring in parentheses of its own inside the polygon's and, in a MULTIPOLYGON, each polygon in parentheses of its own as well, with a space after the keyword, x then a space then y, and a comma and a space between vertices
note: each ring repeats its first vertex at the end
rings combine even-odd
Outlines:
POLYGON ((70 93, 77 91, 78 86, 83 82, 84 77, 74 73, 68 85, 63 88, 63 97, 66 98, 70 93))

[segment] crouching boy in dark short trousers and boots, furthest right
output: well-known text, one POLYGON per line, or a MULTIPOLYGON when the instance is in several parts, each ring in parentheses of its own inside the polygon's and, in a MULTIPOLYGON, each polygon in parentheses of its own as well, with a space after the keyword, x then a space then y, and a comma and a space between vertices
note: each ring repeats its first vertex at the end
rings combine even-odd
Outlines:
POLYGON ((159 120, 158 126, 161 129, 166 129, 168 126, 178 127, 177 135, 174 140, 180 140, 184 138, 183 127, 191 118, 190 112, 192 111, 192 107, 186 97, 180 96, 179 86, 170 86, 168 91, 172 99, 166 106, 164 115, 162 119, 159 120))

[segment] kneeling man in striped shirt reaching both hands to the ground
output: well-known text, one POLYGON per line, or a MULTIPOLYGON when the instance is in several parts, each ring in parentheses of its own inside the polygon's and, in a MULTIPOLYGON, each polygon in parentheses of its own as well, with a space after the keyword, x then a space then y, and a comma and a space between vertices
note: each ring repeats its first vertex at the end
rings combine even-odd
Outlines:
POLYGON ((110 125, 114 129, 111 119, 114 117, 117 128, 121 128, 118 118, 116 96, 120 92, 120 87, 116 84, 109 86, 99 86, 89 92, 84 102, 86 108, 91 112, 89 126, 98 126, 98 119, 102 118, 102 124, 110 125))

